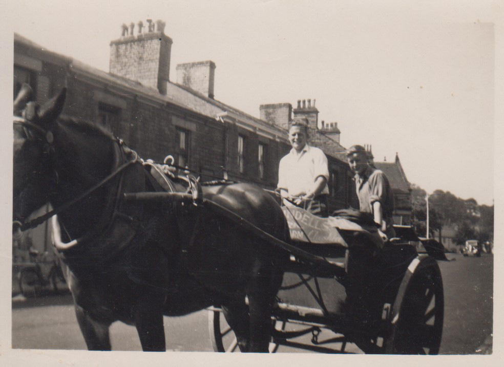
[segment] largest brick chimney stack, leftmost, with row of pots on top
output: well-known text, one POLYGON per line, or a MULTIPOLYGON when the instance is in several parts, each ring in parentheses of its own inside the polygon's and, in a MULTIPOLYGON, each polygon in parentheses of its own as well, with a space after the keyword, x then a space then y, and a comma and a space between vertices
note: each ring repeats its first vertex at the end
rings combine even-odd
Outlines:
POLYGON ((147 19, 147 23, 147 30, 143 32, 143 22, 137 23, 136 35, 133 22, 129 27, 126 24, 121 26, 120 38, 110 42, 109 71, 165 94, 166 82, 170 80, 173 41, 164 34, 164 21, 156 21, 156 30, 152 19, 147 19))

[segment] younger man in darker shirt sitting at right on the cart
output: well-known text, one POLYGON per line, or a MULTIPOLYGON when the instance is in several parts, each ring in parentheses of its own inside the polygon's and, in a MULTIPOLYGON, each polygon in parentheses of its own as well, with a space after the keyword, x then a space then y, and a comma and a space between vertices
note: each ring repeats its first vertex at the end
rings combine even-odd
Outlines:
POLYGON ((359 210, 373 216, 384 240, 395 237, 392 219, 394 196, 387 177, 383 171, 369 164, 369 153, 362 145, 351 146, 347 150, 347 160, 355 175, 359 210))

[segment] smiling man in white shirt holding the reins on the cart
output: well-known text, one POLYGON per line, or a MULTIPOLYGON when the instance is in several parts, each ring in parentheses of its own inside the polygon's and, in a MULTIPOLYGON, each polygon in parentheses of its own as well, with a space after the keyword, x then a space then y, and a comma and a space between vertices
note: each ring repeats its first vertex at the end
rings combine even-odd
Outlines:
POLYGON ((308 126, 295 121, 289 128, 292 149, 280 160, 278 188, 286 203, 305 208, 319 217, 328 217, 329 170, 321 149, 307 144, 308 126))

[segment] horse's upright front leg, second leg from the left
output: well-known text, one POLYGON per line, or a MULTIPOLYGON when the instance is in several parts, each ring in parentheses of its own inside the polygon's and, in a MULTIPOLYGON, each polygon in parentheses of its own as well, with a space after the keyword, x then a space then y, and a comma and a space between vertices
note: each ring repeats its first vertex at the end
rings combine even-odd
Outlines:
POLYGON ((144 352, 165 352, 162 302, 147 298, 133 309, 135 326, 144 352))

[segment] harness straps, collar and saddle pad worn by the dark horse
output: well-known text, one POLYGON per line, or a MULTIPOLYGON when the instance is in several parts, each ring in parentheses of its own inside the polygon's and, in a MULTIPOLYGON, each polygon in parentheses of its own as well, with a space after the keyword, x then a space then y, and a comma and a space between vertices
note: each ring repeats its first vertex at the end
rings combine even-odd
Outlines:
MULTIPOLYGON (((18 117, 15 116, 13 119, 14 123, 20 124, 23 126, 25 130, 25 134, 28 139, 30 140, 36 140, 40 139, 40 136, 45 137, 44 141, 44 147, 43 150, 44 152, 48 153, 51 155, 51 152, 53 151, 53 141, 54 137, 53 134, 50 130, 46 130, 43 127, 39 126, 33 121, 30 121, 26 117, 18 117)), ((141 163, 142 166, 145 168, 150 167, 150 172, 146 169, 142 169, 144 171, 145 177, 148 179, 148 181, 151 183, 151 186, 156 190, 156 191, 168 191, 168 192, 176 192, 175 185, 171 178, 175 180, 181 180, 185 181, 188 185, 187 191, 186 192, 191 192, 192 197, 193 197, 193 203, 195 206, 197 206, 197 203, 201 201, 202 198, 202 190, 201 186, 199 185, 198 181, 191 175, 187 175, 187 177, 184 176, 175 176, 175 175, 170 175, 171 177, 167 177, 163 170, 161 169, 160 165, 152 162, 151 160, 143 161, 138 157, 138 154, 134 152, 134 150, 130 149, 127 147, 124 142, 116 138, 115 139, 116 147, 114 149, 114 169, 109 174, 107 177, 103 178, 100 182, 97 184, 93 185, 92 187, 88 188, 84 192, 82 192, 80 195, 77 197, 67 201, 66 203, 60 205, 59 207, 54 208, 53 210, 40 215, 39 217, 28 221, 24 223, 20 223, 18 221, 13 223, 13 231, 18 230, 20 232, 26 231, 30 228, 34 228, 38 226, 39 224, 45 222, 48 219, 52 220, 52 230, 53 230, 53 242, 58 250, 58 254, 61 255, 62 257, 65 257, 65 253, 68 252, 68 250, 75 250, 77 248, 80 248, 80 246, 77 245, 83 245, 88 242, 94 242, 98 239, 103 239, 103 237, 107 237, 107 233, 117 233, 118 231, 114 231, 112 228, 114 225, 117 225, 117 222, 128 222, 130 225, 129 231, 130 234, 127 235, 127 238, 129 241, 116 241, 119 242, 119 245, 114 246, 115 248, 109 249, 112 251, 104 251, 103 253, 105 254, 105 258, 101 258, 101 262, 107 262, 109 259, 113 258, 116 256, 120 251, 124 250, 128 244, 131 242, 133 239, 134 235, 136 234, 137 229, 140 226, 140 219, 138 218, 138 212, 142 212, 143 205, 142 204, 132 204, 128 203, 128 205, 121 205, 122 204, 122 197, 123 193, 125 191, 128 191, 128 187, 124 186, 129 186, 128 183, 131 182, 131 180, 125 180, 125 176, 128 176, 128 171, 127 168, 134 165, 135 163, 141 163), (64 212, 66 209, 70 208, 71 206, 77 204, 80 200, 88 197, 93 191, 97 190, 98 188, 102 187, 103 185, 110 184, 112 180, 118 179, 117 185, 113 185, 115 187, 111 187, 109 189, 110 194, 108 195, 108 204, 112 205, 104 205, 104 207, 113 207, 112 210, 103 210, 101 214, 100 220, 97 222, 97 225, 95 228, 91 229, 89 232, 87 232, 85 235, 81 236, 78 239, 69 239, 69 242, 64 243, 61 240, 61 229, 60 229, 60 224, 59 221, 57 220, 57 215, 58 213, 64 212), (115 191, 115 193, 113 192, 115 191), (114 203, 112 203, 114 201, 114 203), (140 207, 141 206, 141 207, 140 207)), ((51 159, 51 156, 49 156, 49 159, 51 159)), ((57 175, 56 175, 57 176, 57 175)), ((131 185, 130 185, 131 186, 131 185)), ((131 189, 131 187, 129 187, 131 189)), ((145 190, 145 183, 143 185, 140 185, 140 187, 134 188, 133 191, 137 192, 142 192, 145 190)), ((187 265, 187 251, 190 249, 195 242, 196 235, 197 235, 197 230, 200 226, 201 222, 201 210, 197 210, 197 217, 195 221, 195 226, 194 230, 191 231, 192 235, 189 241, 182 241, 182 248, 180 249, 181 253, 181 258, 179 260, 179 265, 187 265)), ((126 240, 126 239, 124 239, 126 240)), ((110 240, 107 242, 111 242, 110 240)), ((71 251, 73 252, 73 251, 71 251)))

